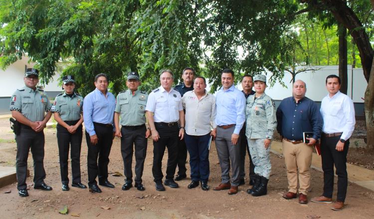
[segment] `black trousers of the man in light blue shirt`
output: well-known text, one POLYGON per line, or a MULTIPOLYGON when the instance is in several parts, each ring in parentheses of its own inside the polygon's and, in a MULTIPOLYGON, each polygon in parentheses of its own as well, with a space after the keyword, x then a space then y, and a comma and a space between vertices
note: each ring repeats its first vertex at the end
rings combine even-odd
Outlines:
POLYGON ((86 131, 89 187, 97 184, 96 177, 99 178, 99 182, 108 179, 109 154, 113 143, 113 126, 94 122, 94 129, 99 139, 96 145, 91 144, 90 134, 86 131))

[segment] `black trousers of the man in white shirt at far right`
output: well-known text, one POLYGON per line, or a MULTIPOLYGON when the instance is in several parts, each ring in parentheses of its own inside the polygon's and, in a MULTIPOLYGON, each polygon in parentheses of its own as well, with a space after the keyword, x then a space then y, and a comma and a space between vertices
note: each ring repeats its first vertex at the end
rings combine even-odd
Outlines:
POLYGON ((321 136, 321 156, 324 178, 323 196, 332 198, 334 191, 334 164, 336 174, 338 175, 338 195, 337 201, 344 202, 347 195, 348 174, 347 174, 347 154, 350 141, 344 144, 343 151, 337 151, 336 144, 340 136, 325 137, 321 136))

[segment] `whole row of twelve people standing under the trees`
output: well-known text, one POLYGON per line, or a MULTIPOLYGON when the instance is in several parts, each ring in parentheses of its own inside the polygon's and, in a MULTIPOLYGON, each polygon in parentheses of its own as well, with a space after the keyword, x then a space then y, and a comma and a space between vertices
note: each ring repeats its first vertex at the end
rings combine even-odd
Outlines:
POLYGON ((192 68, 184 69, 182 78, 183 83, 173 88, 174 74, 170 70, 163 70, 161 86, 148 95, 138 90, 141 85, 139 74, 130 72, 126 81, 128 90, 115 97, 108 91, 107 75, 98 74, 94 82, 96 89, 83 99, 74 92, 74 77, 64 76, 64 93, 58 95, 51 105, 46 94, 36 88, 38 70, 27 69, 25 87, 17 89, 10 102, 12 116, 20 123, 20 132, 16 133, 19 196, 28 196, 25 181, 30 148, 34 160, 34 189, 52 190, 44 183, 43 128, 53 113, 58 123, 57 142, 63 191, 70 189, 69 150, 73 178, 71 186, 87 188, 81 183, 80 175, 84 122, 90 192, 101 193, 98 184, 115 187, 108 181, 109 154, 115 136, 121 138, 125 175, 122 190, 133 187, 132 159, 135 149, 134 186, 144 191, 142 175, 147 138, 152 136, 152 173, 157 191, 165 191, 164 185, 178 188, 176 181, 187 177, 187 151, 191 170, 191 183, 187 188, 201 185, 202 190, 209 190, 209 148, 215 139, 221 183, 213 190, 227 189, 228 194, 232 195, 238 192, 238 186, 245 184, 247 151, 249 184, 252 185, 247 193, 252 196, 266 195, 271 172, 270 144, 277 128, 282 138, 289 184, 289 192, 283 198, 297 197, 299 181, 299 203, 308 202, 306 195, 310 187, 312 146, 321 138, 324 193, 311 201, 332 202, 335 164, 338 199, 332 209, 343 209, 347 191, 346 156, 355 125, 355 111, 352 100, 339 92, 338 76, 331 75, 326 79, 329 95, 322 101, 320 110, 305 97, 306 84, 300 80, 293 84, 293 96, 284 99, 276 110, 274 101, 265 94, 267 86, 264 75, 244 75, 241 79, 243 91, 239 91, 234 85, 234 72, 224 69, 221 72, 222 87, 215 96, 206 91, 205 78, 196 77, 192 68), (146 126, 147 121, 149 127, 146 126), (309 143, 303 141, 304 132, 313 133, 308 138, 309 143), (166 148, 168 162, 163 182, 162 160, 166 148), (179 171, 175 176, 177 166, 179 171))

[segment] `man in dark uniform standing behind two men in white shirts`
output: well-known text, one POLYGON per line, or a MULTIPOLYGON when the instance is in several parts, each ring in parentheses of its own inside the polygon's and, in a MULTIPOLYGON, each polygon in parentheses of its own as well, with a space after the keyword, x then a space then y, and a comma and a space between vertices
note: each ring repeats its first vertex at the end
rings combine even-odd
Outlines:
MULTIPOLYGON (((177 85, 175 89, 183 95, 188 91, 193 91, 193 79, 195 77, 195 70, 193 68, 187 67, 182 71, 183 83, 177 85)), ((184 109, 185 110, 185 109, 184 109)), ((186 110, 185 110, 186 113, 186 110)), ((178 175, 174 178, 176 181, 183 180, 187 177, 186 174, 186 160, 187 160, 187 147, 185 140, 178 141, 178 175)))

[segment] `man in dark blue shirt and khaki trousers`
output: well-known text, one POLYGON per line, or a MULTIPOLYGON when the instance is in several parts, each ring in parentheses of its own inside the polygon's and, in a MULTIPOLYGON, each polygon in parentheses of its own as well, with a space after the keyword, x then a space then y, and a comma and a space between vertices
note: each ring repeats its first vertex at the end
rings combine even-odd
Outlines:
POLYGON ((284 99, 277 109, 277 130, 282 138, 284 160, 287 167, 288 193, 285 199, 297 196, 299 178, 299 203, 307 204, 307 189, 310 187, 310 165, 313 145, 321 135, 322 116, 316 103, 305 97, 305 82, 297 80, 293 84, 293 97, 284 99), (313 132, 309 143, 303 142, 303 132, 313 132), (299 171, 299 177, 297 175, 299 171))

